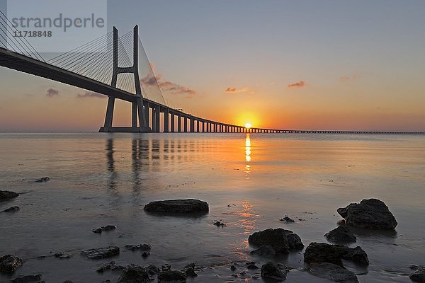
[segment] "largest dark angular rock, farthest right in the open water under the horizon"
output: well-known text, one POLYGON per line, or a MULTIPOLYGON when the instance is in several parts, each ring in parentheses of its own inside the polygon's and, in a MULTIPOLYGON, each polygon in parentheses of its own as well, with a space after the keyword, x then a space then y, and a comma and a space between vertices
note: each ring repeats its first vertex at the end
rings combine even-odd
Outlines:
POLYGON ((376 199, 362 200, 336 209, 349 226, 365 229, 395 229, 397 221, 384 202, 376 199))

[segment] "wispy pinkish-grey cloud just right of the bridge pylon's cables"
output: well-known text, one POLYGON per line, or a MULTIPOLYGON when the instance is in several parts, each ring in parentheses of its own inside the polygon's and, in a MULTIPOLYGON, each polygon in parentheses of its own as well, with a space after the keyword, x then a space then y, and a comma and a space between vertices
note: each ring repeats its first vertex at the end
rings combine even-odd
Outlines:
POLYGON ((183 94, 186 95, 186 98, 192 98, 196 91, 193 91, 193 89, 188 88, 186 86, 181 86, 179 83, 173 83, 172 81, 164 81, 162 79, 162 74, 154 75, 154 64, 149 63, 152 72, 147 74, 144 78, 140 79, 140 83, 142 83, 142 86, 156 86, 158 84, 161 91, 171 93, 171 94, 183 94))

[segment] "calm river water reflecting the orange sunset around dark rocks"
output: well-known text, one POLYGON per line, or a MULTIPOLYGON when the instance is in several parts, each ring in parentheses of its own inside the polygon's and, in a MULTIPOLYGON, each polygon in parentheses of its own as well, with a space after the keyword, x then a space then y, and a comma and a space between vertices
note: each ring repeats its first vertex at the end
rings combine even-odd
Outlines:
MULTIPOLYGON (((15 254, 18 275, 46 282, 115 282, 103 263, 203 267, 193 282, 244 282, 231 262, 268 261, 249 255, 249 234, 267 228, 297 233, 307 246, 341 217, 339 207, 364 198, 384 201, 398 221, 394 233, 357 231, 367 268, 349 263, 359 282, 410 282, 410 265, 425 265, 425 137, 338 134, 0 134, 0 190, 21 195, 0 202, 0 256, 15 254), (35 183, 49 176, 46 183, 35 183), (196 198, 201 217, 154 216, 152 200, 196 198), (284 224, 285 215, 296 219, 284 224), (227 226, 217 228, 215 220, 227 226), (300 221, 298 219, 303 219, 300 221), (91 230, 113 224, 115 231, 91 230), (149 243, 151 255, 124 248, 149 243), (81 250, 119 246, 118 257, 86 260, 81 250), (60 260, 53 253, 72 254, 60 260), (47 258, 39 259, 40 255, 47 258)), ((302 251, 277 258, 293 267, 287 282, 327 282, 303 271, 302 251)), ((192 279, 188 279, 192 282, 192 279)), ((261 282, 258 279, 257 282, 261 282)))

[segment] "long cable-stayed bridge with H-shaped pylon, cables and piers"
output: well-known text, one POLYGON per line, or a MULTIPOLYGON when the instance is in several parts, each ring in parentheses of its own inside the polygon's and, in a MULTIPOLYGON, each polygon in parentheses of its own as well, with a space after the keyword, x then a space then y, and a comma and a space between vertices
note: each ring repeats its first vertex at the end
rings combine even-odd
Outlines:
MULTIPOLYGON (((1 11, 0 11, 1 12, 1 11)), ((105 123, 99 132, 255 132, 327 134, 424 134, 424 132, 320 131, 249 128, 183 112, 167 105, 135 28, 118 36, 98 37, 69 52, 45 60, 25 37, 13 36, 4 13, 0 15, 0 65, 108 96, 105 123), (131 103, 132 125, 113 126, 115 100, 131 103)))

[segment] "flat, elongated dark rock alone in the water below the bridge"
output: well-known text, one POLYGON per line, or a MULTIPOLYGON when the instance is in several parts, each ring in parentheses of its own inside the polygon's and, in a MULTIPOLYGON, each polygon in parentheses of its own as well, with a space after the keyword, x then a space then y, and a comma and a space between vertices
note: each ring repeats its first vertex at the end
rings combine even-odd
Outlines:
POLYGON ((145 205, 147 212, 161 213, 207 213, 209 210, 208 203, 201 200, 160 200, 157 202, 149 202, 145 205))

